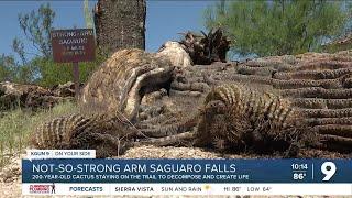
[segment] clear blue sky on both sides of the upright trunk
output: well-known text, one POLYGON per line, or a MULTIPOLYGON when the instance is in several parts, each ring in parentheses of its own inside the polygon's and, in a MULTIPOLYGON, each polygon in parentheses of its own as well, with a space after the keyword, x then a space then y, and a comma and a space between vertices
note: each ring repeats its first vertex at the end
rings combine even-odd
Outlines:
MULTIPOLYGON (((72 1, 1 1, 0 0, 0 54, 13 54, 11 44, 16 36, 25 41, 18 22, 19 13, 37 10, 40 4, 50 2, 55 11, 55 29, 85 28, 82 0, 72 1)), ((96 1, 90 1, 90 8, 96 1)), ((204 30, 202 12, 213 4, 211 0, 147 0, 146 51, 155 52, 168 40, 178 40, 177 33, 187 30, 204 30)), ((26 43, 26 51, 34 52, 26 43)))

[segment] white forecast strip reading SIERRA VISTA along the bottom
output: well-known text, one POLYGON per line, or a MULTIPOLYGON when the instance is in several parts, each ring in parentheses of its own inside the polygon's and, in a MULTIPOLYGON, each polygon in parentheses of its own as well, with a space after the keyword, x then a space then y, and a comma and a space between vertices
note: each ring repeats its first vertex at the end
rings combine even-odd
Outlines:
POLYGON ((352 195, 351 184, 23 184, 23 195, 352 195))

